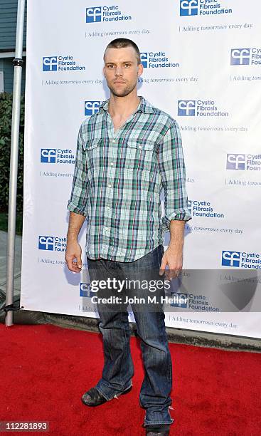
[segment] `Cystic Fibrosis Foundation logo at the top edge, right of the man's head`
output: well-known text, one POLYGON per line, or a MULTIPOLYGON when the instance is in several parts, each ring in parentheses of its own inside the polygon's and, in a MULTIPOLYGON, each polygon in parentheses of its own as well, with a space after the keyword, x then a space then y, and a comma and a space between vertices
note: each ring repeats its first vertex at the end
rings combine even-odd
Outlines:
POLYGON ((232 14, 218 0, 180 0, 180 16, 232 14))

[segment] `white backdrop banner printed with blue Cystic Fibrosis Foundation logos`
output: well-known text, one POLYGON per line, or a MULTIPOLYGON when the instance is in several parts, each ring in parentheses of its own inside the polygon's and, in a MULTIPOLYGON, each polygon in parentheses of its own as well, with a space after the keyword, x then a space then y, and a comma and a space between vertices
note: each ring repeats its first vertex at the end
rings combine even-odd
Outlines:
POLYGON ((86 259, 82 274, 65 265, 67 204, 80 124, 109 97, 105 47, 125 37, 142 53, 138 94, 183 138, 192 220, 166 326, 261 338, 260 16, 258 0, 28 0, 25 309, 97 316, 86 259))

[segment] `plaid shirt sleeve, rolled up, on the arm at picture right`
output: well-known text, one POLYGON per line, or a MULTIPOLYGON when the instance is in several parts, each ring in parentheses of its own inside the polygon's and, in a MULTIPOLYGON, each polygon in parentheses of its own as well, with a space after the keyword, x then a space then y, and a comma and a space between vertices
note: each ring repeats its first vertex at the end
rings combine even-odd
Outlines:
POLYGON ((186 193, 186 170, 181 133, 175 120, 172 121, 159 145, 158 162, 165 197, 162 231, 169 232, 171 219, 180 221, 191 219, 186 193))

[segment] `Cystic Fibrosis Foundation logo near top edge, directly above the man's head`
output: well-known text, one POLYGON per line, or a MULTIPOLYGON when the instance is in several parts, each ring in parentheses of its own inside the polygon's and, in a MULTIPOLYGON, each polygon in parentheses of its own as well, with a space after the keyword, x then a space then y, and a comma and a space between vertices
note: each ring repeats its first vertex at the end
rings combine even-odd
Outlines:
POLYGON ((131 15, 124 15, 119 6, 92 6, 86 8, 86 23, 101 23, 106 21, 129 21, 131 15))

